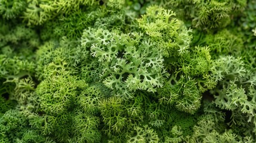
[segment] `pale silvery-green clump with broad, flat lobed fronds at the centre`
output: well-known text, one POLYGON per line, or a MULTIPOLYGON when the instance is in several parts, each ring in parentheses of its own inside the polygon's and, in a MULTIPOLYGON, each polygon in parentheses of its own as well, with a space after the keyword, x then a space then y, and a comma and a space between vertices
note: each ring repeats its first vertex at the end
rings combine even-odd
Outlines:
POLYGON ((162 70, 161 52, 154 48, 155 43, 143 41, 140 33, 118 35, 92 29, 85 30, 81 41, 85 48, 91 47, 92 57, 103 66, 103 83, 118 95, 131 97, 129 92, 136 89, 155 92, 168 76, 162 70))

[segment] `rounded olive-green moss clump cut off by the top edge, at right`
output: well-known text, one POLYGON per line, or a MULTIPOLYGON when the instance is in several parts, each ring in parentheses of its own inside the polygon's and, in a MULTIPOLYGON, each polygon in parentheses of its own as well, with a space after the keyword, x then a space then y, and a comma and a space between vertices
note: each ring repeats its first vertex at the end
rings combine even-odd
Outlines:
POLYGON ((160 5, 171 8, 179 17, 197 29, 209 31, 228 26, 233 16, 239 15, 246 7, 246 0, 185 0, 160 1, 160 5))

